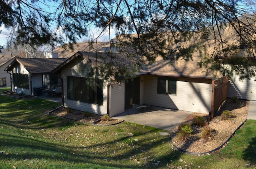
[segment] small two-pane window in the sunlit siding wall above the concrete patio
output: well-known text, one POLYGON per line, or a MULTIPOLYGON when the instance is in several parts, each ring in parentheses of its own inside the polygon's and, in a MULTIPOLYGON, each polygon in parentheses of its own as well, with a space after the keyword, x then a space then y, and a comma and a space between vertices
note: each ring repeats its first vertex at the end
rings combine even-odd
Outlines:
POLYGON ((158 77, 157 93, 176 94, 177 78, 158 77))

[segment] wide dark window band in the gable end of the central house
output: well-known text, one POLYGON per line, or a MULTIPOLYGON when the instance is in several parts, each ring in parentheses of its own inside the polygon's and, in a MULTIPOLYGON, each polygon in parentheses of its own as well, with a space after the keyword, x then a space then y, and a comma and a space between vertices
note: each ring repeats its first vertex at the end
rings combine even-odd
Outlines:
POLYGON ((92 104, 103 104, 103 82, 95 80, 93 85, 86 78, 68 76, 68 99, 92 104))

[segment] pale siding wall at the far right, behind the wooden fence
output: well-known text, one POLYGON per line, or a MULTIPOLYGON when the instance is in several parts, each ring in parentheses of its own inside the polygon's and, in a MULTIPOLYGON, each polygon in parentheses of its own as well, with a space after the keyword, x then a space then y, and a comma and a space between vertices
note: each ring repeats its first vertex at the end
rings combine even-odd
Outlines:
POLYGON ((228 97, 231 98, 233 96, 238 96, 240 99, 245 100, 256 100, 256 82, 255 79, 243 79, 239 80, 238 76, 232 77, 234 84, 236 85, 238 91, 240 91, 241 96, 238 95, 235 88, 228 83, 228 97))

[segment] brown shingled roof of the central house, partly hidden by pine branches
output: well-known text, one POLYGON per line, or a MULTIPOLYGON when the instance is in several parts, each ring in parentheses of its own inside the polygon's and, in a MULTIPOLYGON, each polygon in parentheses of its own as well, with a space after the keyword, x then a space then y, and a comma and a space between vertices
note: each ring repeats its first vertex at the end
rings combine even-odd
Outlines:
MULTIPOLYGON (((76 57, 82 57, 97 67, 100 67, 100 65, 104 63, 110 63, 110 59, 112 59, 112 63, 115 65, 116 69, 122 65, 126 65, 128 69, 132 69, 132 66, 136 64, 136 60, 129 59, 129 57, 125 57, 122 54, 114 53, 110 57, 110 53, 77 52, 56 67, 53 72, 60 71, 69 63, 75 61, 76 57)), ((151 65, 145 65, 144 67, 140 68, 138 72, 134 73, 135 75, 147 74, 158 76, 189 77, 197 79, 213 79, 214 75, 212 73, 206 73, 206 69, 199 68, 197 65, 200 58, 193 57, 193 59, 193 61, 185 61, 184 59, 180 59, 177 62, 170 62, 170 60, 164 60, 162 57, 157 57, 156 62, 151 65)))

